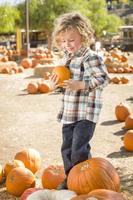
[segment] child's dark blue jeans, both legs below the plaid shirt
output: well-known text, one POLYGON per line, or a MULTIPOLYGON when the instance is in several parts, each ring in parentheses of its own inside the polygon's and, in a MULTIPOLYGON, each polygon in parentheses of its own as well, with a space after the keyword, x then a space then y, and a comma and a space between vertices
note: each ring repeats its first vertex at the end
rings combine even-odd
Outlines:
POLYGON ((89 141, 95 126, 96 123, 89 120, 63 124, 61 154, 66 175, 74 165, 91 157, 89 141))

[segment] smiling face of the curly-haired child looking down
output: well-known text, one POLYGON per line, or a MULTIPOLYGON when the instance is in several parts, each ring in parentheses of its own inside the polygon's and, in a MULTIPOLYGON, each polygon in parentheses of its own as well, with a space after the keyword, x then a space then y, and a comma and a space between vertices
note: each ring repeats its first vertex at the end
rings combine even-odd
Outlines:
POLYGON ((61 48, 69 53, 75 53, 82 45, 82 37, 76 29, 62 32, 60 39, 61 48))

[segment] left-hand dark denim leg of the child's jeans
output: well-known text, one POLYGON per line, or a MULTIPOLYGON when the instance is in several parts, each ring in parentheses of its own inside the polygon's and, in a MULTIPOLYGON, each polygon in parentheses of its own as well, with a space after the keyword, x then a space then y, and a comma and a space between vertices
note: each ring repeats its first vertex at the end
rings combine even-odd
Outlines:
POLYGON ((62 127, 62 146, 61 146, 61 154, 64 163, 64 169, 66 175, 69 170, 72 168, 71 164, 71 147, 73 140, 73 129, 74 123, 72 124, 64 124, 62 127))

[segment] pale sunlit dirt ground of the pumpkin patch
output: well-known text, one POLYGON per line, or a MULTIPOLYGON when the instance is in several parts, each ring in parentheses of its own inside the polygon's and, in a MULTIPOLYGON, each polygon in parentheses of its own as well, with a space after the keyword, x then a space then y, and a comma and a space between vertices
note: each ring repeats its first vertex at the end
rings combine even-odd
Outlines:
MULTIPOLYGON (((133 65, 133 54, 129 62, 133 65)), ((91 146, 93 156, 105 158, 117 168, 121 192, 126 199, 133 200, 133 152, 124 149, 124 123, 118 122, 114 114, 115 106, 123 101, 133 110, 133 74, 127 76, 129 84, 109 84, 104 89, 104 105, 91 146)), ((3 166, 26 147, 40 152, 41 170, 47 165, 62 164, 61 124, 56 121, 61 94, 27 94, 27 84, 38 79, 33 69, 16 75, 0 74, 0 164, 3 166)), ((17 198, 1 185, 0 200, 6 199, 17 198)))

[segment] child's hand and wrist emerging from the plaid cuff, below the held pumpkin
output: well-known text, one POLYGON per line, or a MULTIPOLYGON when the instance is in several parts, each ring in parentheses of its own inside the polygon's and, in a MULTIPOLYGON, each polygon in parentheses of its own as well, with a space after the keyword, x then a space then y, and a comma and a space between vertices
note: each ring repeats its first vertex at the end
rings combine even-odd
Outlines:
POLYGON ((83 81, 69 79, 64 81, 63 88, 69 90, 83 90, 85 89, 85 83, 83 81))

